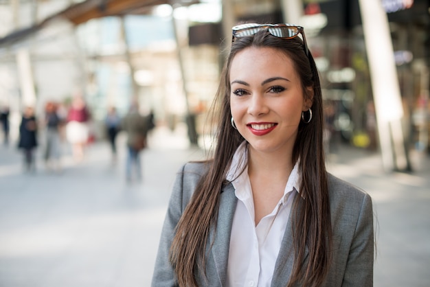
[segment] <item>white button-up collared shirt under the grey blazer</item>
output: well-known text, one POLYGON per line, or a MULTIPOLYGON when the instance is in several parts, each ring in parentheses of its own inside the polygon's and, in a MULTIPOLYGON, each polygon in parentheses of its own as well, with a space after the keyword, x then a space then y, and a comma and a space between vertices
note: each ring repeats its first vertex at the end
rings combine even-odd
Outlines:
POLYGON ((299 190, 298 164, 294 165, 288 177, 284 196, 271 214, 264 216, 255 226, 247 157, 246 143, 243 142, 236 150, 227 173, 227 180, 233 184, 238 198, 231 228, 227 286, 267 287, 271 284, 293 198, 299 190))

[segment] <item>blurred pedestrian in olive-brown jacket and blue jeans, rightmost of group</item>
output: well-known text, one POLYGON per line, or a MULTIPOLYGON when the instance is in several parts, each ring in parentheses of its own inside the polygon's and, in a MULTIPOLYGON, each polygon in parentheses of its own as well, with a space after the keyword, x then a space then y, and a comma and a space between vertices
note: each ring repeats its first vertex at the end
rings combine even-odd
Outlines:
POLYGON ((133 102, 128 113, 121 121, 120 127, 127 133, 127 157, 126 157, 126 181, 135 178, 142 179, 142 163, 139 154, 146 148, 146 136, 148 134, 148 119, 139 113, 139 104, 133 102))

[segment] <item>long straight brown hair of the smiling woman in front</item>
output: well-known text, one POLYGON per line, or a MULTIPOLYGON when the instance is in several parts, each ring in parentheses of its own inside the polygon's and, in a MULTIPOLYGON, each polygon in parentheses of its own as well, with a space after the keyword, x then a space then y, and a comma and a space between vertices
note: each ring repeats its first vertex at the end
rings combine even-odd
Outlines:
POLYGON ((302 81, 304 97, 311 97, 306 88, 313 87, 313 118, 308 124, 299 124, 293 148, 293 164, 299 160, 302 183, 301 196, 295 197, 291 216, 295 264, 287 286, 319 286, 328 273, 332 238, 319 76, 313 56, 310 53, 306 56, 299 38, 283 40, 264 30, 253 36, 237 38, 231 45, 212 106, 212 111, 218 115, 213 159, 206 161, 207 172, 179 220, 170 248, 170 262, 174 266, 179 286, 197 286, 196 273, 205 274, 205 249, 210 227, 216 227, 220 192, 226 184, 225 176, 234 152, 244 141, 230 123, 229 69, 234 56, 247 47, 273 47, 283 51, 293 60, 302 81), (304 265, 306 249, 309 255, 304 265))

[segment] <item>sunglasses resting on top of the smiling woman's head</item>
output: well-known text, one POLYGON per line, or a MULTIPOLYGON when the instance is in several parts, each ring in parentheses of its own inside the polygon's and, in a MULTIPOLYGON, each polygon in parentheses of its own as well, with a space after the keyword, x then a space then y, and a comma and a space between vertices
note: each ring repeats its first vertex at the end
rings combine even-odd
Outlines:
POLYGON ((231 42, 234 42, 236 38, 252 36, 262 29, 267 29, 269 33, 275 37, 282 39, 292 39, 298 34, 302 34, 304 51, 306 56, 309 54, 308 45, 306 44, 306 37, 304 36, 304 30, 302 26, 290 25, 290 24, 257 24, 257 23, 246 23, 237 25, 231 28, 233 32, 233 38, 231 42))

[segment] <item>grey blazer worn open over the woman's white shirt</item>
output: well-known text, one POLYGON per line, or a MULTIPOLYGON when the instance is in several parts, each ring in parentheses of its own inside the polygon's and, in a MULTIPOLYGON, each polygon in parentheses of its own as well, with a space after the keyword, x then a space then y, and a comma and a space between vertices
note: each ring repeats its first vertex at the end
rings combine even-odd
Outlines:
MULTIPOLYGON (((202 163, 187 163, 178 173, 161 233, 153 287, 178 286, 168 261, 174 228, 188 204, 205 168, 202 163)), ((357 187, 329 174, 333 250, 330 271, 324 286, 373 286, 374 229, 372 200, 357 187)), ((225 286, 231 224, 237 198, 233 185, 220 196, 218 226, 210 232, 212 250, 207 244, 206 278, 196 274, 199 286, 225 286)), ((291 222, 288 221, 271 286, 286 286, 293 270, 294 251, 291 222)))

